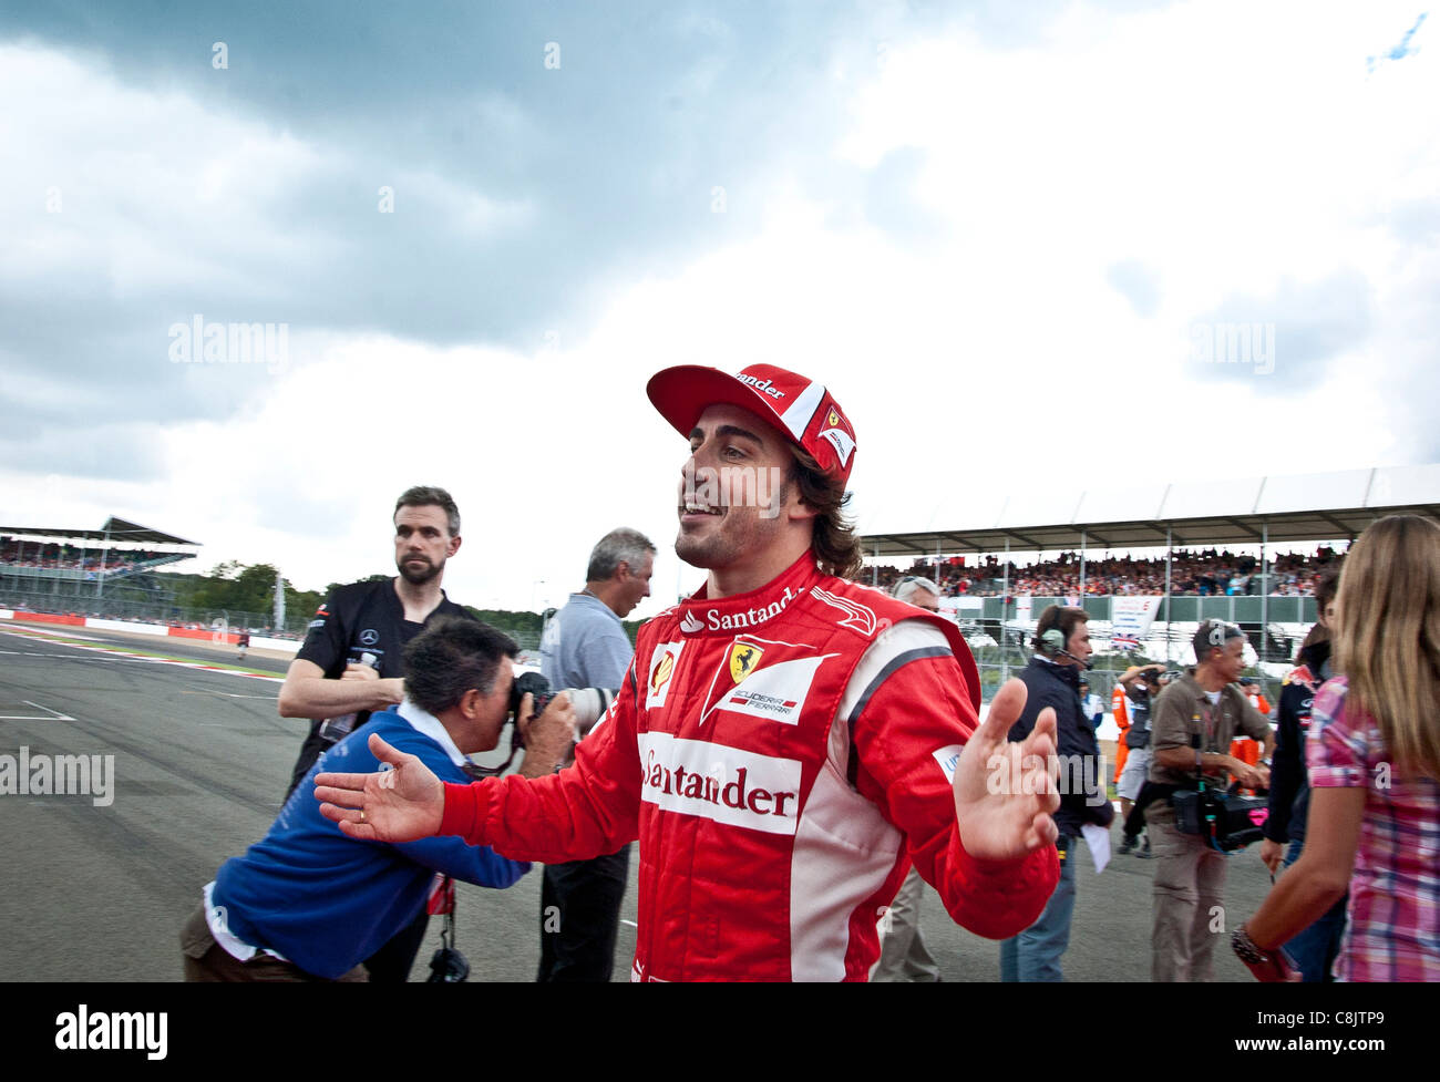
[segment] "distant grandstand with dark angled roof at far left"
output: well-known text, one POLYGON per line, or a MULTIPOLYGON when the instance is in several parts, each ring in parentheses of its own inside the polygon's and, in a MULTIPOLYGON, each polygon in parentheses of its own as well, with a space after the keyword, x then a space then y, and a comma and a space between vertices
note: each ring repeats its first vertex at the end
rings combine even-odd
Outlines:
POLYGON ((199 548, 114 515, 99 529, 0 525, 0 603, 91 616, 148 612, 174 597, 154 573, 199 548))

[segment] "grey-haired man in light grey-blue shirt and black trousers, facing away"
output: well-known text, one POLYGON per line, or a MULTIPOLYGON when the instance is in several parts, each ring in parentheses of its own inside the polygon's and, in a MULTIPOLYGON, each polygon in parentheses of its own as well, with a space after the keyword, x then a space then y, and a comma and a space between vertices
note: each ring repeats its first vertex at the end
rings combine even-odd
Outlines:
MULTIPOLYGON (((546 624, 540 672, 556 691, 618 691, 635 656, 621 617, 649 597, 655 545, 612 529, 590 553, 585 588, 546 624)), ((540 981, 608 981, 615 963, 629 845, 609 856, 547 865, 540 889, 540 981)))

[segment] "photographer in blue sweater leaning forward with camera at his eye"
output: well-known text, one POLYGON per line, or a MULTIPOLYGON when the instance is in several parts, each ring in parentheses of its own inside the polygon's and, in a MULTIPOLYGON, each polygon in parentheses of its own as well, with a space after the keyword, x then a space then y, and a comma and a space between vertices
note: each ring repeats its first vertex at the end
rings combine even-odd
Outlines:
POLYGON ((540 718, 514 704, 516 643, 469 619, 441 617, 405 647, 406 698, 320 757, 269 833, 226 860, 180 934, 186 980, 367 980, 369 958, 425 908, 435 872, 510 886, 530 865, 458 837, 403 845, 357 842, 320 814, 318 770, 376 770, 366 738, 379 732, 438 777, 471 780, 467 754, 488 751, 511 711, 530 718, 521 774, 549 774, 569 751, 575 712, 564 698, 540 718))

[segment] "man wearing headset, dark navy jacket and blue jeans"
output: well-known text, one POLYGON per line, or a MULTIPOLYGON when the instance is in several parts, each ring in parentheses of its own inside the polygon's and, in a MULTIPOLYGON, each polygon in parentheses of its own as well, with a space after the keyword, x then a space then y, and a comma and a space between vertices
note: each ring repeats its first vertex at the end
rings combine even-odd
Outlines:
POLYGON ((1056 711, 1056 744, 1060 754, 1060 809, 1054 813, 1060 837, 1060 885, 1050 895, 1040 919, 1020 935, 999 944, 1002 981, 1060 981, 1060 955, 1070 945, 1070 917, 1076 908, 1074 845, 1086 823, 1110 826, 1115 807, 1104 793, 1104 773, 1094 727, 1081 712, 1080 673, 1090 668, 1090 617, 1084 609, 1053 604, 1035 624, 1035 655, 1020 679, 1030 696, 1009 729, 1012 741, 1025 740, 1040 711, 1056 711))

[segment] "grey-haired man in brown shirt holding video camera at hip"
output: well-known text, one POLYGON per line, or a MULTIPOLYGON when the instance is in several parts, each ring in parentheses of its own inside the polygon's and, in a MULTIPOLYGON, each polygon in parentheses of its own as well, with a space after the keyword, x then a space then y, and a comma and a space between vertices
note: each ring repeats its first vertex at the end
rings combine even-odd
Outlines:
MULTIPOLYGON (((1197 774, 1204 774, 1217 788, 1230 777, 1246 788, 1266 788, 1274 734, 1236 682, 1246 668, 1244 635, 1224 620, 1207 620, 1192 643, 1194 672, 1166 686, 1153 704, 1151 781, 1174 793, 1195 788, 1197 774), (1250 765, 1230 754, 1236 732, 1264 742, 1261 763, 1250 765)), ((1198 835, 1181 833, 1168 799, 1151 803, 1145 822, 1155 839, 1156 865, 1151 978, 1207 981, 1217 935, 1211 925, 1224 904, 1225 853, 1198 835)))

